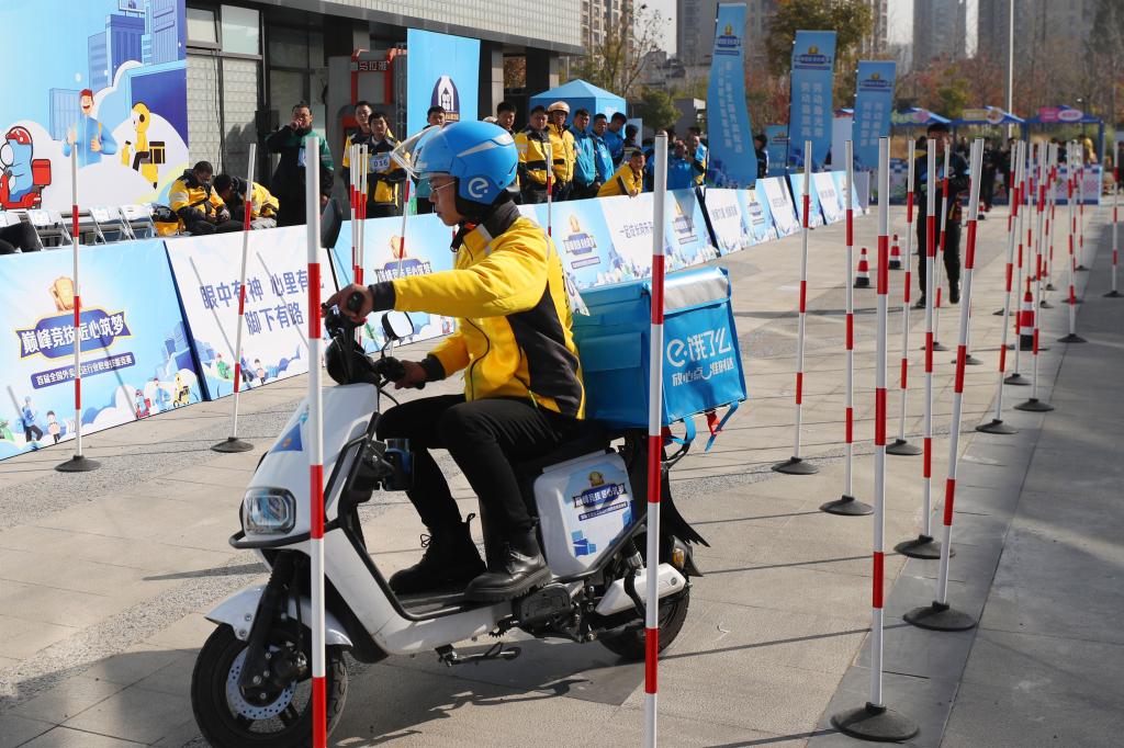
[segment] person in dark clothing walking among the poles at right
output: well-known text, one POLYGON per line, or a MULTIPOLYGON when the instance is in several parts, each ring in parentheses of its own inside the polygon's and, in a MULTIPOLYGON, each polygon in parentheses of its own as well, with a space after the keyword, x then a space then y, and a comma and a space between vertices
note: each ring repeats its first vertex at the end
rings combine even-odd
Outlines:
MULTIPOLYGON (((952 147, 952 135, 949 126, 935 122, 928 126, 928 137, 936 142, 936 174, 932 175, 935 182, 936 209, 941 209, 943 193, 941 191, 942 179, 944 176, 944 152, 952 147)), ((925 305, 925 254, 926 254, 926 216, 928 215, 928 156, 921 154, 914 163, 914 194, 917 204, 917 257, 918 270, 917 281, 921 284, 921 298, 917 307, 925 305)), ((949 301, 960 302, 960 219, 961 204, 960 193, 968 190, 968 162, 958 153, 949 155, 949 209, 944 216, 939 216, 936 220, 936 245, 940 254, 941 232, 948 231, 944 241, 944 270, 949 279, 949 301)), ((939 258, 940 259, 940 258, 939 258)))

